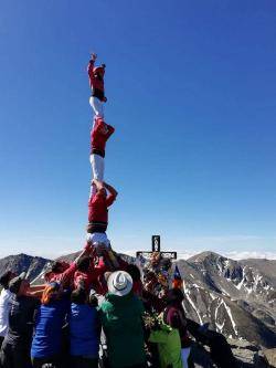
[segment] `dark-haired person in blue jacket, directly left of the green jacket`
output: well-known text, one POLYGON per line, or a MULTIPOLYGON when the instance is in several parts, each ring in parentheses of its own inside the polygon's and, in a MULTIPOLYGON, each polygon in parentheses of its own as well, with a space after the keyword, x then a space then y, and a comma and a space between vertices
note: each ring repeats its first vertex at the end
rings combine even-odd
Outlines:
POLYGON ((71 302, 68 324, 72 368, 97 368, 102 329, 97 299, 79 287, 72 293, 71 302))

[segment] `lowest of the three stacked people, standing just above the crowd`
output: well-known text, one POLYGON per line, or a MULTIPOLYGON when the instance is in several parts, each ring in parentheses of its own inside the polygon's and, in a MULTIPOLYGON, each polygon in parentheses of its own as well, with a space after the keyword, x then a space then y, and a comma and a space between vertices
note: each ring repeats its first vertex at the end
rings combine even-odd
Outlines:
POLYGON ((109 249, 110 243, 106 235, 108 207, 114 203, 118 192, 112 186, 97 179, 93 179, 93 185, 95 193, 91 196, 88 202, 87 241, 94 246, 104 244, 109 249))

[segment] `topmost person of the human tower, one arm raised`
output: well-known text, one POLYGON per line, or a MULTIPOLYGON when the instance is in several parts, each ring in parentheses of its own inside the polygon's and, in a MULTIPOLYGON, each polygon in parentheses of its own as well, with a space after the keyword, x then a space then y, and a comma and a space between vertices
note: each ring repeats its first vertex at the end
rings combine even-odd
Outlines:
POLYGON ((94 109, 96 116, 104 117, 103 104, 107 101, 105 96, 105 64, 95 66, 97 54, 92 53, 91 60, 87 66, 89 86, 92 90, 92 96, 89 97, 89 104, 94 109))

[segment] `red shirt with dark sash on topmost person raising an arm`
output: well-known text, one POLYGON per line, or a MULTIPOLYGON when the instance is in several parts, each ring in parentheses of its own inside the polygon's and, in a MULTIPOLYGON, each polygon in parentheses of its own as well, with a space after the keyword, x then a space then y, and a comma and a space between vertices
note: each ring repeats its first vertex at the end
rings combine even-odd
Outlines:
POLYGON ((87 66, 87 72, 89 77, 89 86, 92 88, 92 95, 97 97, 99 101, 105 102, 105 69, 103 66, 95 67, 95 62, 91 60, 87 66))

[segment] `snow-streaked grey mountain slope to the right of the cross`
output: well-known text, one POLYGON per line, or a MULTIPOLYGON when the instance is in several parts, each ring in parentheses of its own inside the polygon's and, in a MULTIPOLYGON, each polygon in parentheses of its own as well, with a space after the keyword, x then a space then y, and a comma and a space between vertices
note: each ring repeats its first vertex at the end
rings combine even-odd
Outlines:
POLYGON ((229 338, 276 346, 276 261, 234 261, 213 252, 179 260, 187 315, 229 338))

